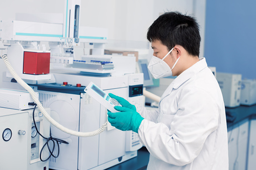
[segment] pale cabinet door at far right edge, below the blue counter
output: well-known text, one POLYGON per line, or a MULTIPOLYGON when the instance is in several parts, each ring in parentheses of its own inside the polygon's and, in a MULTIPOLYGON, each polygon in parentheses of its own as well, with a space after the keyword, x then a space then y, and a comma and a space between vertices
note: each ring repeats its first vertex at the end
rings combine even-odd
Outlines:
POLYGON ((256 120, 251 120, 250 124, 250 140, 249 140, 249 150, 248 150, 248 170, 254 170, 256 167, 256 120))

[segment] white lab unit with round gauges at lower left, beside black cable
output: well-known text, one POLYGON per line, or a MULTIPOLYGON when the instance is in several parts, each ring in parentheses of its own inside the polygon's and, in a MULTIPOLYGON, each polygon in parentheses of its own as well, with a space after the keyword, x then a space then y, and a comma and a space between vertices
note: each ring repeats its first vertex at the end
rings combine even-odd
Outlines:
MULTIPOLYGON (((45 109, 50 114, 50 109, 45 109)), ((32 113, 33 109, 15 110, 0 105, 0 131, 3 133, 0 140, 1 169, 49 169, 49 160, 41 161, 39 157, 46 139, 35 132, 32 113)), ((40 133, 49 137, 50 123, 38 109, 35 110, 35 121, 40 133)), ((43 149, 42 158, 48 156, 48 149, 43 149)))

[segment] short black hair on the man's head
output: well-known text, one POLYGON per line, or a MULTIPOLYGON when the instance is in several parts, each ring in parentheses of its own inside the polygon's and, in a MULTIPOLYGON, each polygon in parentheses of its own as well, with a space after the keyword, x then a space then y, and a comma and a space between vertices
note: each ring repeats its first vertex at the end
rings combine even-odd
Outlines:
POLYGON ((195 18, 179 12, 168 12, 159 16, 148 28, 147 40, 159 40, 168 50, 180 45, 189 55, 199 57, 199 25, 195 18))

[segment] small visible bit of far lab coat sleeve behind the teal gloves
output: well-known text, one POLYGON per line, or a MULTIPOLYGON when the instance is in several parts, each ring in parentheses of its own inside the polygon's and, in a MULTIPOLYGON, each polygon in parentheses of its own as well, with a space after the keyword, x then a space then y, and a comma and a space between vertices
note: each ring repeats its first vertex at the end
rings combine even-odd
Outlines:
POLYGON ((144 118, 149 121, 155 122, 158 115, 159 115, 159 108, 156 108, 155 110, 147 110, 145 107, 137 107, 137 112, 144 118))

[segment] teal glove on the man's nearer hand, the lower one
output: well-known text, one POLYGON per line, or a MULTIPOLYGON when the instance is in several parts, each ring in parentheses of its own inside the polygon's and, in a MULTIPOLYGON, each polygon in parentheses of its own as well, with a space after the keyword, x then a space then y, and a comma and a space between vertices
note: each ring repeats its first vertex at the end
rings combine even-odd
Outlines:
POLYGON ((139 125, 144 119, 141 115, 127 107, 115 106, 117 113, 108 112, 108 120, 112 126, 119 130, 132 130, 138 133, 139 125))

